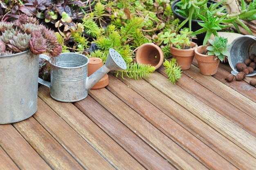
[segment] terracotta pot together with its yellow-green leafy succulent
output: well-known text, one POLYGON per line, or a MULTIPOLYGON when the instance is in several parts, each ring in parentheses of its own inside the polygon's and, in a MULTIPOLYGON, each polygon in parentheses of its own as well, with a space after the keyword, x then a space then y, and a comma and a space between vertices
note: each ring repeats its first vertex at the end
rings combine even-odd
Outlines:
POLYGON ((189 29, 180 31, 180 34, 167 29, 164 34, 159 36, 159 40, 163 41, 164 44, 170 44, 171 54, 173 58, 176 58, 176 62, 182 70, 190 69, 194 58, 194 48, 198 46, 195 42, 190 41, 191 33, 193 31, 189 31, 189 29))

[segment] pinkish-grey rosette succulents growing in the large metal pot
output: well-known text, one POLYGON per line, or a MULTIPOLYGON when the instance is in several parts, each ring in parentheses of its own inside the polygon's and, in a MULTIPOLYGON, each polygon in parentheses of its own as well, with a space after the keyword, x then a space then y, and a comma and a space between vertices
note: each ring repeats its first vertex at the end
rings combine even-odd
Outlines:
POLYGON ((34 54, 59 56, 62 51, 55 32, 21 14, 14 22, 0 22, 0 56, 30 50, 34 54))

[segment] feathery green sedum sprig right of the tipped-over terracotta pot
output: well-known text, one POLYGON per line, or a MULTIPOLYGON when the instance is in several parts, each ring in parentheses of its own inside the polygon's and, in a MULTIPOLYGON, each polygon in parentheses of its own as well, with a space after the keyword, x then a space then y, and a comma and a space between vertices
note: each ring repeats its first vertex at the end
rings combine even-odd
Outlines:
POLYGON ((164 63, 164 72, 166 72, 168 81, 175 84, 176 81, 182 76, 182 70, 180 65, 177 65, 176 58, 172 58, 171 61, 165 60, 164 63))

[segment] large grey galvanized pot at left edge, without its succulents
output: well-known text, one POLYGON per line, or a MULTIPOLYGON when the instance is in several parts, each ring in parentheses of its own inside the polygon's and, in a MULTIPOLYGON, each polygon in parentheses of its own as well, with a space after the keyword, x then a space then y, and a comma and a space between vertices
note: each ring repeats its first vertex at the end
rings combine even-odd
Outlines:
POLYGON ((0 124, 22 121, 37 110, 38 55, 0 56, 0 124))

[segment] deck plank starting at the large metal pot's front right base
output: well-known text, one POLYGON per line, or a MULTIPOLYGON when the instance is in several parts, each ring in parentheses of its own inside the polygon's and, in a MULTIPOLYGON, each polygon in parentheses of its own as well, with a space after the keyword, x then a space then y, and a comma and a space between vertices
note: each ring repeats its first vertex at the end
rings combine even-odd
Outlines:
POLYGON ((13 126, 51 168, 61 170, 83 169, 33 117, 13 123, 13 126))

